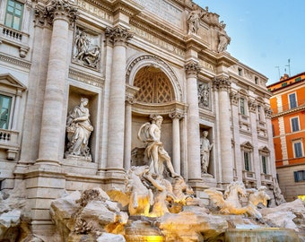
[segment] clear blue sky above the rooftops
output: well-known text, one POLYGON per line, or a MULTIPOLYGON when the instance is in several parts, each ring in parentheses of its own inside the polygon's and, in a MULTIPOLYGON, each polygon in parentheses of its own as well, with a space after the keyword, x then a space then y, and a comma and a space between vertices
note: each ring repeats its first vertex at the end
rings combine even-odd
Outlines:
POLYGON ((279 72, 291 76, 305 72, 305 0, 194 2, 220 15, 231 37, 227 51, 266 75, 267 84, 278 82, 279 72))

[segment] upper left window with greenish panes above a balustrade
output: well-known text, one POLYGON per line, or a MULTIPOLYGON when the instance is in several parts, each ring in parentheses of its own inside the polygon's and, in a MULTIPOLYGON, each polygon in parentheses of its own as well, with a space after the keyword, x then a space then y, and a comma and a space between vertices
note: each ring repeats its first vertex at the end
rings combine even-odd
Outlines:
POLYGON ((5 15, 5 25, 15 30, 22 29, 23 4, 15 0, 8 0, 5 15))

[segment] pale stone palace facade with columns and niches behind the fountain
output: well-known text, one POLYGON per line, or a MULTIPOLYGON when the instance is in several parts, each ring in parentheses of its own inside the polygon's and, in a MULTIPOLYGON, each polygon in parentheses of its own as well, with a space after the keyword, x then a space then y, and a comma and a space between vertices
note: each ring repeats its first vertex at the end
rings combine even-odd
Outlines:
POLYGON ((32 229, 52 226, 49 204, 65 191, 123 186, 141 161, 138 130, 156 115, 198 197, 233 180, 273 195, 266 76, 226 51, 217 13, 185 0, 5 0, 0 10, 1 189, 25 183, 32 229))

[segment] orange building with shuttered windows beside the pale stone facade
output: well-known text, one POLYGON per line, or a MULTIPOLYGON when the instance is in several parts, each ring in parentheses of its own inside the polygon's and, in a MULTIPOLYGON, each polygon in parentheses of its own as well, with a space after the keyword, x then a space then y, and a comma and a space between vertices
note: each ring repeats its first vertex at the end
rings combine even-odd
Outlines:
POLYGON ((284 74, 267 86, 273 96, 275 166, 279 186, 287 202, 305 200, 305 73, 284 74))

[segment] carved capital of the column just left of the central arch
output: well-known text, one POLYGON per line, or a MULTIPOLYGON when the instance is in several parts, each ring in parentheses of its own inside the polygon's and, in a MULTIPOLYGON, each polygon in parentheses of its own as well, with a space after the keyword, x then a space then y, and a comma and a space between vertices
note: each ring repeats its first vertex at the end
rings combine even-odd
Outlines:
POLYGON ((115 28, 107 28, 105 30, 106 39, 108 42, 113 43, 114 45, 124 45, 128 43, 130 39, 133 38, 133 34, 120 26, 115 28))

